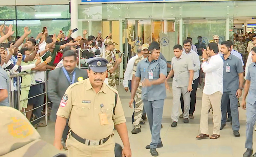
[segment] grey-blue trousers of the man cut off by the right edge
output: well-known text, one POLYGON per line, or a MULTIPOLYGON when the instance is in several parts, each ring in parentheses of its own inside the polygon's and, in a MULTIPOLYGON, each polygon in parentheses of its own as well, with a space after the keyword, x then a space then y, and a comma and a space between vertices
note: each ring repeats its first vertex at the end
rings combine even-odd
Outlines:
MULTIPOLYGON (((232 115, 233 116, 233 115, 232 115)), ((232 117, 233 119, 233 117, 232 117)), ((252 105, 246 102, 246 144, 245 148, 252 149, 253 131, 256 121, 256 102, 252 105)))

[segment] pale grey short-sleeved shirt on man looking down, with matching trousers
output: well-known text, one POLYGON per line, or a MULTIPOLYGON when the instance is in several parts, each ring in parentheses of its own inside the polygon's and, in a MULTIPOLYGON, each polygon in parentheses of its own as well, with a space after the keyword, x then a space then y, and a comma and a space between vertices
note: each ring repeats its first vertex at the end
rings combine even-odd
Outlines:
POLYGON ((179 58, 172 58, 172 70, 174 72, 172 85, 186 87, 189 84, 189 71, 193 70, 193 62, 189 56, 182 54, 179 58))

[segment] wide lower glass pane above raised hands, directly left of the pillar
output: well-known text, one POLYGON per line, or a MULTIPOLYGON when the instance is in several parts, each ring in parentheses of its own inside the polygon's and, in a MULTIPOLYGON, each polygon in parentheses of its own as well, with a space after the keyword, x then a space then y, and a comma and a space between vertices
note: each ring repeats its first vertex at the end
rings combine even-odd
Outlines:
POLYGON ((24 27, 31 29, 29 36, 36 37, 43 27, 47 27, 48 34, 58 34, 63 30, 64 34, 68 34, 70 28, 70 20, 17 20, 17 31, 19 36, 23 35, 24 27))

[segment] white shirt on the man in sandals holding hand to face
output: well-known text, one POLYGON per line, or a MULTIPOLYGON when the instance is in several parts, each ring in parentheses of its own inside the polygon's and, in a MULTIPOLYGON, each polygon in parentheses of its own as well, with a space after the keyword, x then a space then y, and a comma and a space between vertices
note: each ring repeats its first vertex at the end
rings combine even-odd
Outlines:
POLYGON ((220 91, 223 94, 223 59, 220 55, 214 55, 208 62, 203 62, 202 71, 205 73, 203 93, 212 95, 220 91))

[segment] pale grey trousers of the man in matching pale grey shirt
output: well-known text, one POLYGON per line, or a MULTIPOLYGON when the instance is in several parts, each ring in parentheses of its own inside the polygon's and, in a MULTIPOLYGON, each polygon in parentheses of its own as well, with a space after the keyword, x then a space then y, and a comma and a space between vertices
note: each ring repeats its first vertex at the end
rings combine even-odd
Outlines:
POLYGON ((188 86, 186 87, 172 86, 172 94, 173 94, 172 122, 178 122, 181 95, 183 95, 183 101, 184 101, 183 118, 186 119, 189 117, 190 93, 187 91, 188 91, 188 86))

